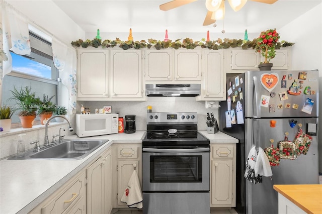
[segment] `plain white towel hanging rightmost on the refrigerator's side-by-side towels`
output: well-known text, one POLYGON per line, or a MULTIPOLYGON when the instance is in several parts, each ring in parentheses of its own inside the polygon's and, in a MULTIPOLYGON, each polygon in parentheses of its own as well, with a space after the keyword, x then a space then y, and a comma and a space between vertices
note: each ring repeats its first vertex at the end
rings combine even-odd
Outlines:
POLYGON ((257 161, 254 167, 255 175, 262 175, 265 177, 272 176, 272 168, 270 165, 270 161, 268 160, 264 150, 259 147, 257 161))

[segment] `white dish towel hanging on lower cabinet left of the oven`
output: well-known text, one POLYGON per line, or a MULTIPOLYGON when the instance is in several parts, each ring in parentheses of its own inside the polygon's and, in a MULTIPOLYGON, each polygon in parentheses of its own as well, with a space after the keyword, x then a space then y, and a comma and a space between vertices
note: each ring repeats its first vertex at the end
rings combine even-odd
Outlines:
POLYGON ((143 198, 139 177, 136 173, 136 170, 133 170, 130 180, 127 183, 126 189, 121 197, 121 202, 125 202, 130 208, 136 207, 140 209, 143 207, 142 201, 143 198))

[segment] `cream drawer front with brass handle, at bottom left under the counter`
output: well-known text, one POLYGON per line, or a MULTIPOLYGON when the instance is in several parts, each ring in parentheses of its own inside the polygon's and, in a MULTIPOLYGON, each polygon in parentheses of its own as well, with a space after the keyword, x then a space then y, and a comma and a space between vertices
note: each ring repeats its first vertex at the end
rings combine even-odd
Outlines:
POLYGON ((61 192, 60 196, 52 200, 47 206, 41 208, 41 214, 44 213, 62 213, 71 207, 76 201, 82 197, 85 191, 85 173, 75 180, 69 188, 61 192))

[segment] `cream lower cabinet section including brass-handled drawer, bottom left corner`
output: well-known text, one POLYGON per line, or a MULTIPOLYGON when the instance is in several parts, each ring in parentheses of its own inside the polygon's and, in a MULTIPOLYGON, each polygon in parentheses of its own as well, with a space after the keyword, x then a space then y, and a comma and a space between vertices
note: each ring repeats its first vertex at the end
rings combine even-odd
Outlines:
POLYGON ((29 213, 86 213, 85 172, 78 173, 29 213))

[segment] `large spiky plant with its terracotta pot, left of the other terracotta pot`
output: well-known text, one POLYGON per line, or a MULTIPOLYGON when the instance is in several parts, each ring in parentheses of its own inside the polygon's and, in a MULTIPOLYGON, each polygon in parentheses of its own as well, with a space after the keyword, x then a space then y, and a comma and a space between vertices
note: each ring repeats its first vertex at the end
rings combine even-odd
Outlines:
POLYGON ((10 97, 10 100, 16 100, 17 109, 21 110, 18 113, 21 124, 23 128, 32 128, 33 122, 36 118, 36 111, 40 103, 40 99, 36 97, 36 93, 31 91, 31 88, 21 87, 18 90, 14 87, 14 90, 11 90, 13 96, 10 97))

